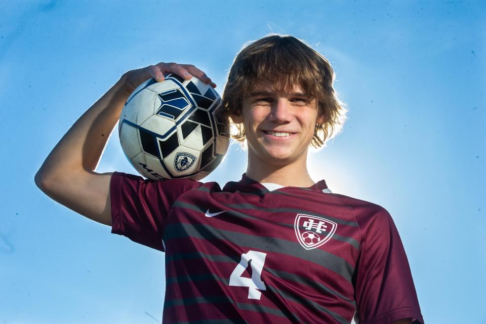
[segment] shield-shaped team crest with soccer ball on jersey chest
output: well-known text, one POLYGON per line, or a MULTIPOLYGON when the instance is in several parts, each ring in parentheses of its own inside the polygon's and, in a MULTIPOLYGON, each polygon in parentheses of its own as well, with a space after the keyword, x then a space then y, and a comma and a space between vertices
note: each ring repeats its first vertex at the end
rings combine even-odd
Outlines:
POLYGON ((305 214, 295 217, 295 235, 300 245, 306 250, 312 250, 325 244, 336 231, 336 224, 329 219, 305 214))

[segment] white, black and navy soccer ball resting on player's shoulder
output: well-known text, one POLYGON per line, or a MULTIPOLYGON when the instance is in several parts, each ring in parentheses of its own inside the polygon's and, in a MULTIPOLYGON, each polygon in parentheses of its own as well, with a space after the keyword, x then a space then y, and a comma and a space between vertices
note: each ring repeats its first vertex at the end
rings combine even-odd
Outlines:
POLYGON ((132 166, 154 180, 200 180, 223 159, 229 146, 221 97, 196 77, 174 73, 153 78, 130 95, 120 114, 121 147, 132 166))

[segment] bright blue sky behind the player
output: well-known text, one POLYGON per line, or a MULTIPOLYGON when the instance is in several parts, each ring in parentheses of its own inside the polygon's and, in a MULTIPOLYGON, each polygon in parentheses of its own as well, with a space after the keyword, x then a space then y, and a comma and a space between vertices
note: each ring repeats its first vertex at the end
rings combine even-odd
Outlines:
MULTIPOLYGON (((33 176, 125 71, 190 63, 221 92, 241 46, 271 31, 325 55, 349 108, 343 133, 310 155, 313 179, 390 212, 427 323, 486 322, 484 2, 0 5, 0 323, 161 320, 164 254, 55 203, 33 176)), ((205 181, 245 169, 233 145, 205 181)), ((116 134, 98 170, 135 173, 116 134)))

